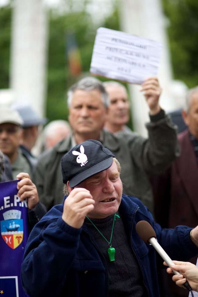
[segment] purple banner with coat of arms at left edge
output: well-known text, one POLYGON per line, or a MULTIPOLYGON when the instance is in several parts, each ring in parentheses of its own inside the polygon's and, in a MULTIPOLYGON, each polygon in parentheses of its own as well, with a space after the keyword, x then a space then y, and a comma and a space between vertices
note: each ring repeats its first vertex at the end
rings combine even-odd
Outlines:
POLYGON ((27 200, 17 196, 19 180, 0 183, 0 296, 24 297, 21 263, 28 239, 27 200))

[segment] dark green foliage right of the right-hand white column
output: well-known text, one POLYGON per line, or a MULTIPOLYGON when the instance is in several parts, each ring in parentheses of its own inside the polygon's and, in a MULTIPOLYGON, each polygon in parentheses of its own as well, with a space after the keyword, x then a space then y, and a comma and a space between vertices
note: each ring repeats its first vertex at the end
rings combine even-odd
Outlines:
POLYGON ((168 37, 175 79, 188 87, 198 82, 198 2, 197 0, 163 0, 168 17, 168 37))

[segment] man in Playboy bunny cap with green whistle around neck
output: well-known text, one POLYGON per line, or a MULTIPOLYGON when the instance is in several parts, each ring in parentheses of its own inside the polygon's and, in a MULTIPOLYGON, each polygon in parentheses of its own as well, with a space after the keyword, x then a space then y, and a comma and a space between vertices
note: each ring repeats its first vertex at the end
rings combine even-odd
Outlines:
POLYGON ((139 199, 122 194, 120 165, 97 140, 62 157, 65 197, 34 227, 21 269, 22 284, 39 296, 159 296, 163 260, 136 233, 146 220, 170 257, 197 254, 198 227, 162 229, 139 199), (192 231, 191 231, 192 230, 192 231))

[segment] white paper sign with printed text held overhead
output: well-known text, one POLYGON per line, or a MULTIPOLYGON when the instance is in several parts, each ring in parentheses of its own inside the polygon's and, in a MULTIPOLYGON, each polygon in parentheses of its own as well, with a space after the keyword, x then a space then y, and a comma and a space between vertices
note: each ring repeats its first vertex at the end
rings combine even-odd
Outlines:
POLYGON ((160 42, 100 27, 97 30, 90 72, 95 75, 141 84, 156 76, 160 42))

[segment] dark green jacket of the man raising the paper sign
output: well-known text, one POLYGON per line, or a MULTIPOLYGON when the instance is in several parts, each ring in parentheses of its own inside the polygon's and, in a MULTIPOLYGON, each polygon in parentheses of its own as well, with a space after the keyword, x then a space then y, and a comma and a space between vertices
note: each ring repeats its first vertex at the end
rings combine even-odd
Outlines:
MULTIPOLYGON (((123 133, 115 136, 103 130, 103 145, 107 147, 121 164, 123 193, 139 198, 153 213, 153 194, 148 174, 164 171, 180 150, 177 130, 164 111, 150 116, 146 125, 149 138, 137 133, 123 133)), ((39 199, 49 210, 62 203, 63 183, 61 159, 72 148, 71 135, 55 147, 43 152, 38 159, 33 181, 37 186, 39 199)))

